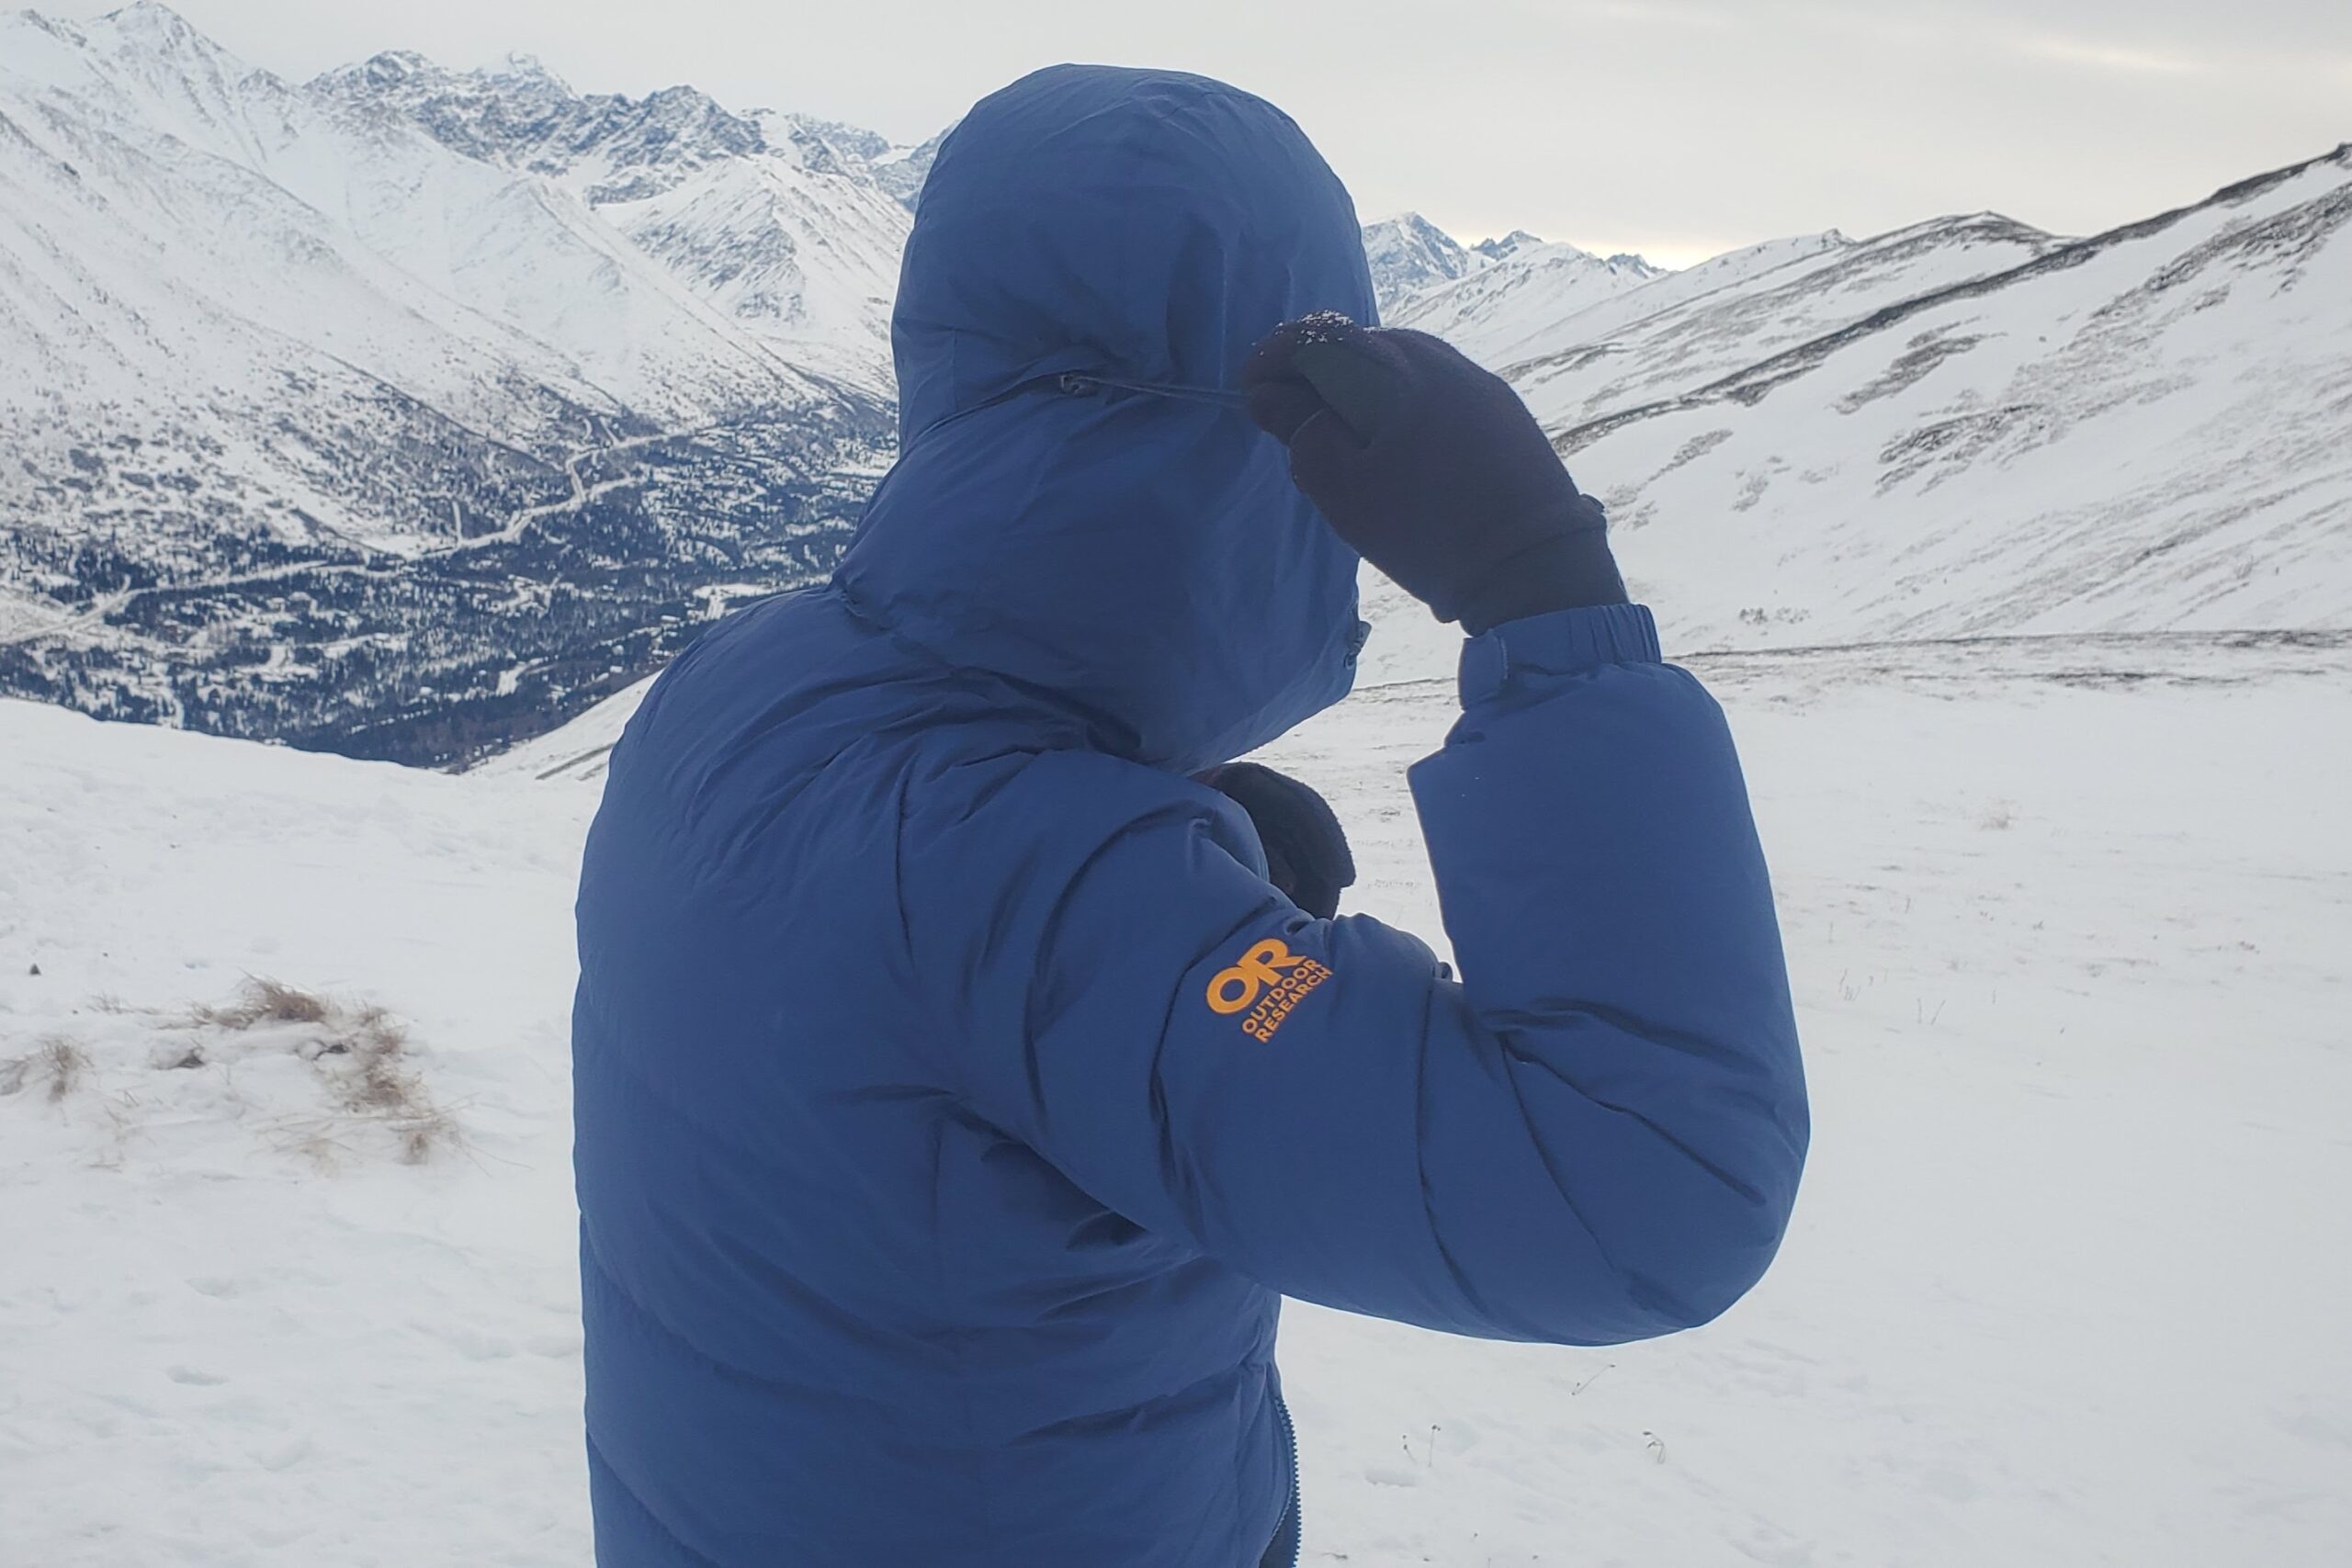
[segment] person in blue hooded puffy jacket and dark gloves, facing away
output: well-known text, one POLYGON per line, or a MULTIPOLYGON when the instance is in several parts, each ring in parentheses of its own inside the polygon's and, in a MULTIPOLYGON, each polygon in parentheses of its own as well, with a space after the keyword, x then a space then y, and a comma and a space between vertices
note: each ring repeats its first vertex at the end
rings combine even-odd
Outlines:
POLYGON ((1279 1295, 1602 1345, 1771 1260, 1806 1114, 1722 715, 1510 388, 1371 315, 1218 82, 1044 71, 941 148, 898 465, 588 839, 604 1568, 1291 1563, 1279 1295), (1461 983, 1216 771, 1348 691, 1357 552, 1475 632, 1414 769, 1461 983))

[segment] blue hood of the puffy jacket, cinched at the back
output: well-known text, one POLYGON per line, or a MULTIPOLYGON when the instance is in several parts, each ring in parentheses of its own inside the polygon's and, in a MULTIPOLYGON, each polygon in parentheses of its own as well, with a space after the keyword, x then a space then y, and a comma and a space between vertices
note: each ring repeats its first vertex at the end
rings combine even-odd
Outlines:
POLYGON ((868 618, 1084 712, 1169 769, 1345 696, 1357 557, 1230 388, 1310 310, 1374 320, 1355 207, 1277 108, 1207 78, 1054 66, 938 150, 891 348, 901 456, 835 576, 868 618))

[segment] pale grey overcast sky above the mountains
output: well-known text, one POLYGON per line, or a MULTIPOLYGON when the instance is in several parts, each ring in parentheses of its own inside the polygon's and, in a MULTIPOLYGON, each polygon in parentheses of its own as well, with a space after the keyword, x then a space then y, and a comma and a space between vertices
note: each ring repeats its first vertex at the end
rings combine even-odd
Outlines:
MULTIPOLYGON (((38 9, 94 14, 103 5, 38 9)), ((2352 0, 176 0, 308 78, 508 52, 920 141, 1035 66, 1178 66, 1287 108, 1367 219, 1668 263, 1992 207, 2091 233, 2352 141, 2352 0)))

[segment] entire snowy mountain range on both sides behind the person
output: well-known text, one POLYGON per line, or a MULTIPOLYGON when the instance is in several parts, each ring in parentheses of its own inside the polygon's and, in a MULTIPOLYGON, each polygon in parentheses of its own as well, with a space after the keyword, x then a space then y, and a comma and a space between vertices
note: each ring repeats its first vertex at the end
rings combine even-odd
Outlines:
MULTIPOLYGON (((847 543, 936 146, 0 14, 0 693, 409 764, 609 724, 847 543)), ((2082 240, 1364 249, 1383 320, 1526 395, 1677 646, 1771 649, 2352 632, 2347 228, 2338 148, 2082 240)), ((1369 590, 1364 679, 1451 663, 1369 590)))

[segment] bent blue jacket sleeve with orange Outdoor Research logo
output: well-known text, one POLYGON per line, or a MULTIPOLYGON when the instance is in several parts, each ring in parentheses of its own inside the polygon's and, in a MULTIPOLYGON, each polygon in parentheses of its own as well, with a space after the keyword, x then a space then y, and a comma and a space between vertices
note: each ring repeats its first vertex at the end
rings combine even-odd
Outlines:
POLYGON ((1289 905, 1214 792, 1049 755, 953 832, 990 846, 936 954, 955 1077, 1287 1295, 1573 1345, 1703 1324, 1771 1262, 1806 1150, 1731 733, 1639 607, 1472 639, 1463 703, 1411 771, 1461 983, 1289 905))

